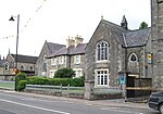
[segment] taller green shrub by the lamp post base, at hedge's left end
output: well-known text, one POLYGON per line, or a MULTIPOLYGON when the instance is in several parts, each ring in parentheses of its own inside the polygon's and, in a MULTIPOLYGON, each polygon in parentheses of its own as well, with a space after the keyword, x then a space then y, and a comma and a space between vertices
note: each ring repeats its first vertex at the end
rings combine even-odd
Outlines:
POLYGON ((26 74, 25 73, 18 73, 16 76, 15 76, 15 91, 18 90, 20 86, 18 86, 18 83, 21 80, 26 80, 26 74))

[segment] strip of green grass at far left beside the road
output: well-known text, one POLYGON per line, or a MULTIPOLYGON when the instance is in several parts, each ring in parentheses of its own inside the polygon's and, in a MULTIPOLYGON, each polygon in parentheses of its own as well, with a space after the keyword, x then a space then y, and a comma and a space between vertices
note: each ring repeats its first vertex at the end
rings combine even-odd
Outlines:
POLYGON ((0 88, 14 89, 14 86, 15 86, 14 81, 0 81, 0 88))

